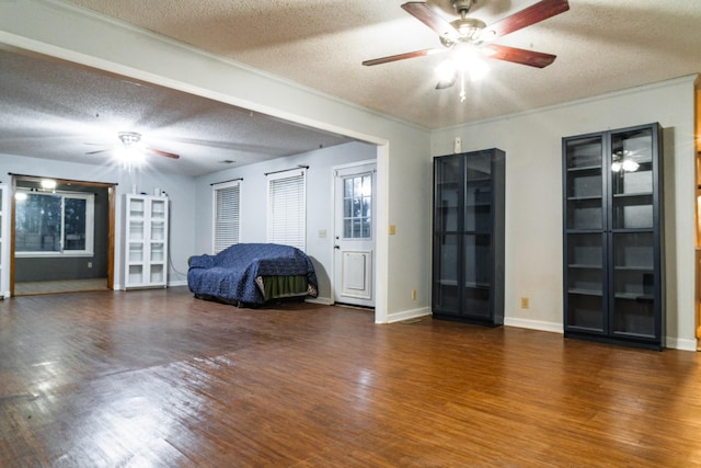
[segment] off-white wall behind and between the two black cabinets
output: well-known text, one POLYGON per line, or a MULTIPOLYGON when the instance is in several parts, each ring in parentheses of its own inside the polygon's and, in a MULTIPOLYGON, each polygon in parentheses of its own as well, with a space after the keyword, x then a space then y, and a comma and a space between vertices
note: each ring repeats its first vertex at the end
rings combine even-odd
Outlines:
POLYGON ((507 324, 563 330, 562 138, 659 122, 665 128, 667 345, 696 350, 693 79, 434 132, 432 152, 506 151, 507 324), (520 297, 530 299, 520 309, 520 297))

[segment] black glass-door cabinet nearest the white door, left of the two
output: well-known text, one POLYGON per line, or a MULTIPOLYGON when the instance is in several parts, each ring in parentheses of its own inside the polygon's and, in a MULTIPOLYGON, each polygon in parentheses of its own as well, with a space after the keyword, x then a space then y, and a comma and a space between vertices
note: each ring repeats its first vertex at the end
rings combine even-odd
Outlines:
POLYGON ((499 149, 434 158, 432 310, 504 323, 504 181, 499 149))

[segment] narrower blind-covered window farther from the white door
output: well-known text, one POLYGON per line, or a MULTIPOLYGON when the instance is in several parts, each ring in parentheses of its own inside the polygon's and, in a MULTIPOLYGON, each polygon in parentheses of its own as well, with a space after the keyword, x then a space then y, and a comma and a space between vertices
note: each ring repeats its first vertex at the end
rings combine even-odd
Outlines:
POLYGON ((239 243, 240 182, 227 182, 214 187, 214 252, 219 253, 229 246, 239 243))

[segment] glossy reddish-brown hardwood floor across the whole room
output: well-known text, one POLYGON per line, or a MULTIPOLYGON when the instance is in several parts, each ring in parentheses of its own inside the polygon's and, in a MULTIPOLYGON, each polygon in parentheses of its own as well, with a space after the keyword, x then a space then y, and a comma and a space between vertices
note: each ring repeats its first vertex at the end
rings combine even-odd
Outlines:
POLYGON ((701 466, 697 353, 372 320, 184 287, 0 301, 0 466, 701 466))

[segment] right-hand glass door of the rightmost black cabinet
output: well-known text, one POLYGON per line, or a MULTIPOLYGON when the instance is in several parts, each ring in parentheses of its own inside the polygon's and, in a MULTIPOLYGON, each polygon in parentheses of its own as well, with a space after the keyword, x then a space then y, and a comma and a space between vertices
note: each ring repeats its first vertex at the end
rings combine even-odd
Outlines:
POLYGON ((611 134, 613 333, 654 336, 653 129, 611 134))

